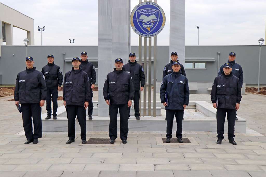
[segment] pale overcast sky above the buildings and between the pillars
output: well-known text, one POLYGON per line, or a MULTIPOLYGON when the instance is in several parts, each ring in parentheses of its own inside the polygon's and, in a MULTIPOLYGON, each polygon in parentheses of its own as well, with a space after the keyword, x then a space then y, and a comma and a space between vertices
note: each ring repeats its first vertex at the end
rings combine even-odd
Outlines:
MULTIPOLYGON (((126 0, 125 0, 126 1, 126 0)), ((35 45, 41 44, 38 27, 45 26, 43 45, 97 45, 97 0, 0 0, 34 19, 35 45)), ((131 0, 131 10, 138 4, 131 0)), ((157 45, 169 45, 169 0, 157 0, 166 15, 157 45)), ((257 45, 265 38, 265 0, 186 0, 185 45, 257 45)), ((27 33, 14 29, 14 45, 24 45, 27 33)), ((131 45, 138 35, 131 30, 131 45)))

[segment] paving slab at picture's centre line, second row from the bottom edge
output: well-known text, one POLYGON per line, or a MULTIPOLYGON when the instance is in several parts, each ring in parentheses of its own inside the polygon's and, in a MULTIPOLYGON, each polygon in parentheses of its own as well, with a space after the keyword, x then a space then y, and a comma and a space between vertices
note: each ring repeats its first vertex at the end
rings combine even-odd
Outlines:
POLYGON ((120 164, 119 171, 154 171, 153 164, 120 164))

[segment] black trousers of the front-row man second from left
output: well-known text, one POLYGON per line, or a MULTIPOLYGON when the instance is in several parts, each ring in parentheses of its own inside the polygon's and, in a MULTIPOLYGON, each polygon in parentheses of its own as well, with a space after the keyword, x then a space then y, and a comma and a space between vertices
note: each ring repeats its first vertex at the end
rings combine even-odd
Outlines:
POLYGON ((86 140, 86 110, 84 106, 66 105, 66 107, 68 115, 68 138, 70 140, 75 139, 75 121, 77 116, 81 130, 80 137, 82 140, 86 140))

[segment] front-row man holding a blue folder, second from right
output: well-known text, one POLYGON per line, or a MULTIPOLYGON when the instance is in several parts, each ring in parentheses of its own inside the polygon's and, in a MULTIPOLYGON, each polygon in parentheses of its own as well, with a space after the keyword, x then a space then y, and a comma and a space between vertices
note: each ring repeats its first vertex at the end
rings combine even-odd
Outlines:
POLYGON ((183 143, 182 118, 189 101, 189 88, 188 79, 186 76, 180 74, 180 68, 180 63, 178 61, 173 62, 173 71, 171 74, 164 77, 160 88, 161 103, 163 103, 166 110, 166 143, 171 142, 174 115, 176 116, 177 123, 177 141, 183 143))

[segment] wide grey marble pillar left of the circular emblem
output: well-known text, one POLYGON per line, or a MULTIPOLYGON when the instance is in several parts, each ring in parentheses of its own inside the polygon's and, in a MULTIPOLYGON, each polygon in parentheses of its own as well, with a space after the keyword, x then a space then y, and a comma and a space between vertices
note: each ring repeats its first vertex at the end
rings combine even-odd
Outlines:
MULTIPOLYGON (((98 0, 98 109, 100 117, 109 117, 103 98, 106 76, 113 71, 115 58, 128 60, 130 49, 130 1, 98 0)), ((125 63, 125 62, 123 62, 125 63)))

